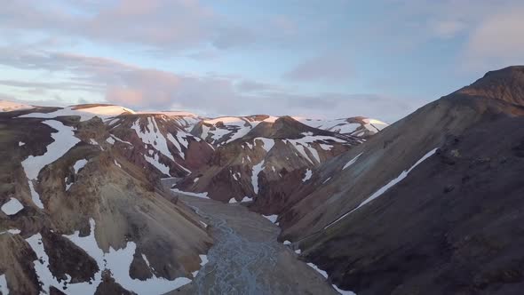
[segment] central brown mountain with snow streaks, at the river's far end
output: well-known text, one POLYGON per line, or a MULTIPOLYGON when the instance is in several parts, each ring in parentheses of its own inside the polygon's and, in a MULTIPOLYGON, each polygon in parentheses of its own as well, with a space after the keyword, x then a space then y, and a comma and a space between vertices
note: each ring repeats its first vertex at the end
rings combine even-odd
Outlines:
POLYGON ((363 141, 315 129, 290 116, 274 121, 262 118, 255 127, 245 128, 249 131, 242 137, 219 143, 210 162, 175 188, 223 202, 276 205, 306 181, 314 167, 363 141))

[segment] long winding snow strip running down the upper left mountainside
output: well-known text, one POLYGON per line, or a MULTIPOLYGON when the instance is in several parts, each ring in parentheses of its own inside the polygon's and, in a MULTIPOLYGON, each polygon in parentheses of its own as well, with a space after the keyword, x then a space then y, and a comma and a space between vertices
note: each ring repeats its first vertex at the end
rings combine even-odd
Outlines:
POLYGON ((46 120, 42 122, 51 126, 58 132, 51 133, 52 139, 54 140, 49 146, 44 155, 29 155, 27 159, 22 162, 22 167, 28 177, 29 188, 31 190, 31 197, 33 203, 36 204, 40 209, 44 209, 44 204, 40 201, 40 195, 36 193, 35 187, 33 187, 32 180, 38 178, 38 173, 49 163, 53 163, 60 157, 67 153, 70 148, 73 148, 78 140, 75 137, 73 128, 62 124, 55 120, 46 120))

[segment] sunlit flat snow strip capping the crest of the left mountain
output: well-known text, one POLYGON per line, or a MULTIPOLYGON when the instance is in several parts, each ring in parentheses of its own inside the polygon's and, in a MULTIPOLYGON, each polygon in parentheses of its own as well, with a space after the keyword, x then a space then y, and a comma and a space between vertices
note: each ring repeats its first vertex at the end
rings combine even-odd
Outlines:
POLYGON ((91 118, 98 116, 103 120, 107 120, 110 117, 121 115, 125 112, 134 114, 129 108, 123 108, 120 106, 99 106, 93 108, 80 108, 73 109, 75 107, 61 108, 52 113, 31 113, 27 115, 19 116, 20 118, 56 118, 57 116, 80 116, 80 121, 91 120, 91 118))

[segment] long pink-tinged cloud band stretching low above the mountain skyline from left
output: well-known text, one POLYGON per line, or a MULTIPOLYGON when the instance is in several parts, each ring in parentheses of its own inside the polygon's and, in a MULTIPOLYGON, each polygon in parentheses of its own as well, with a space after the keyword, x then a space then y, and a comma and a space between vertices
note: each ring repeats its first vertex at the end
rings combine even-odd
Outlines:
MULTIPOLYGON (((137 110, 179 108, 202 115, 266 113, 276 116, 375 116, 392 122, 417 107, 382 95, 305 95, 286 91, 280 85, 245 80, 242 77, 186 76, 72 53, 5 48, 0 48, 0 52, 12 53, 0 55, 0 65, 67 75, 66 81, 60 83, 4 80, 0 84, 22 89, 80 89, 101 93, 107 102, 137 110)), ((63 104, 67 97, 60 95, 60 98, 51 97, 48 100, 62 100, 60 104, 63 104)))

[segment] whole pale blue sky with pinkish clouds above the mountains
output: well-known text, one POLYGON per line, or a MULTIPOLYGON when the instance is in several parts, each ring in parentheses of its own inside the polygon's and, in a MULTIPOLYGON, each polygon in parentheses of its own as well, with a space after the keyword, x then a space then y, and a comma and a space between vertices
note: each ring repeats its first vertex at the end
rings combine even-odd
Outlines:
POLYGON ((0 99, 393 123, 524 64, 518 0, 4 0, 0 99))

